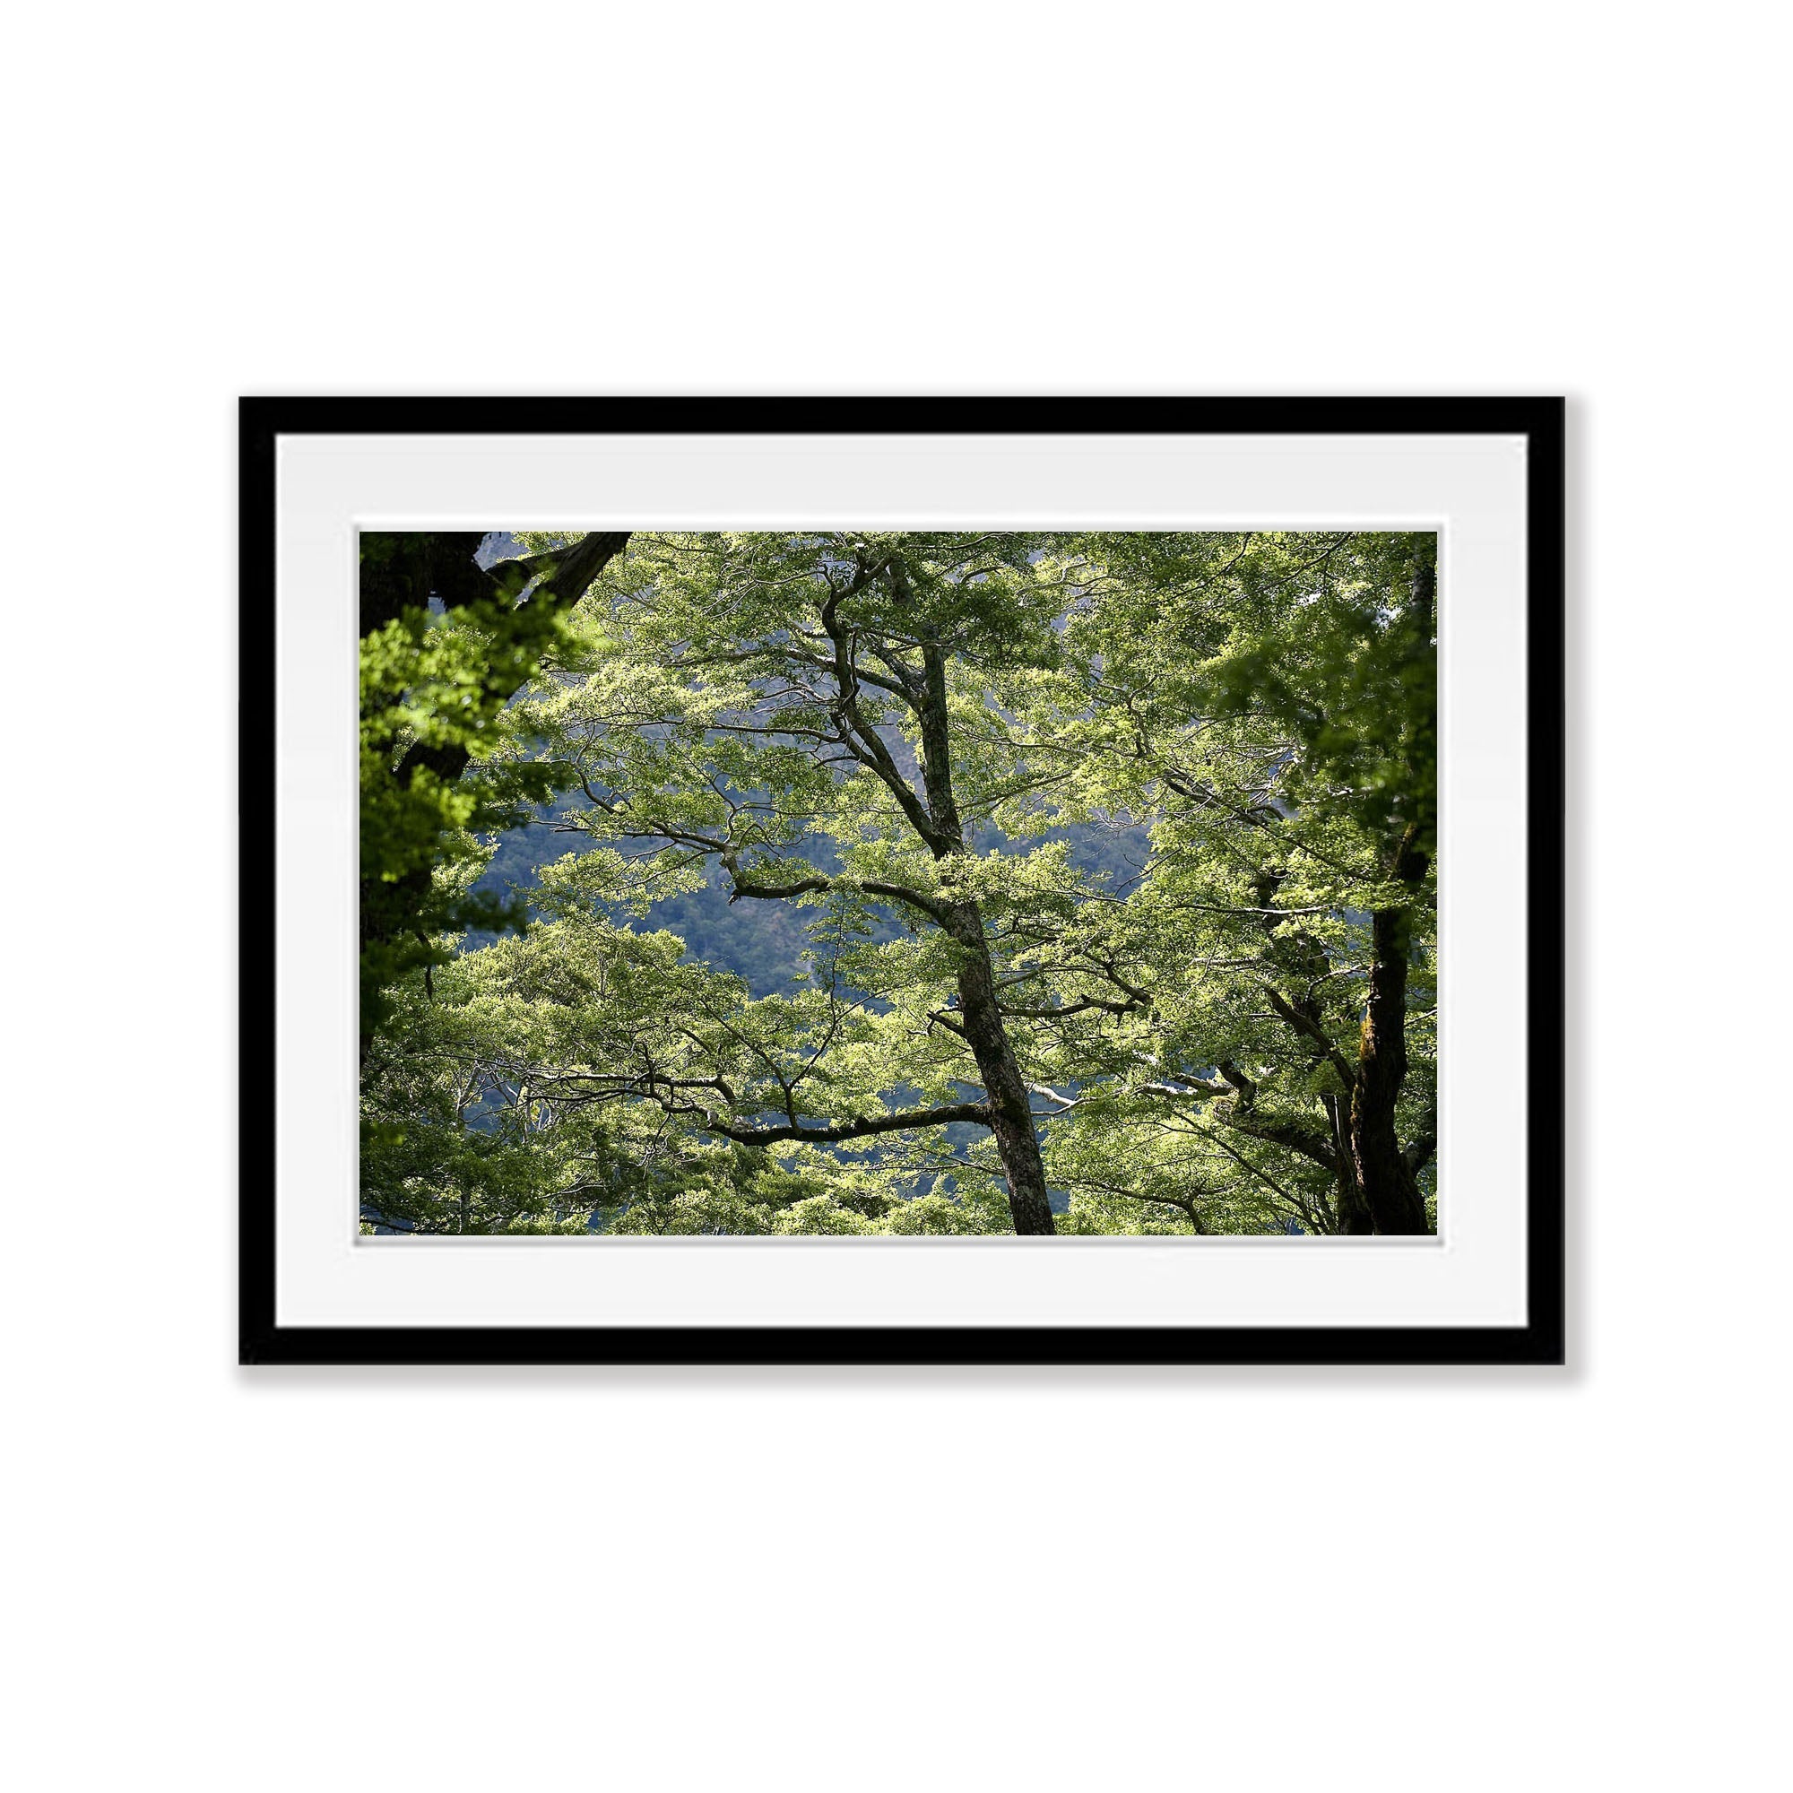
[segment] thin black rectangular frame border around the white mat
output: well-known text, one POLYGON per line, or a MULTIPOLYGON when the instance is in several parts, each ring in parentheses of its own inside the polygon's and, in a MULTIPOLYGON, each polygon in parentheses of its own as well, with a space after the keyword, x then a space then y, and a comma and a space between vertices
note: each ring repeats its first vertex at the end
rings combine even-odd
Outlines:
POLYGON ((244 1364, 1562 1364, 1562 398, 244 398, 238 412, 240 914, 269 914, 276 443, 292 434, 1499 434, 1526 455, 1526 1321, 1511 1327, 294 1327, 276 1320, 274 963, 242 927, 238 1361, 244 1364))

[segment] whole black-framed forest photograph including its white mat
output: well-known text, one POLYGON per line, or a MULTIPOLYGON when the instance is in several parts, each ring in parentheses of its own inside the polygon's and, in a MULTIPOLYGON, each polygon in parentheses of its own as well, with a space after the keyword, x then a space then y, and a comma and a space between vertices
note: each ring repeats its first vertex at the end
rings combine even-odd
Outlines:
POLYGON ((240 479, 244 1363, 1563 1361, 1560 400, 240 479))

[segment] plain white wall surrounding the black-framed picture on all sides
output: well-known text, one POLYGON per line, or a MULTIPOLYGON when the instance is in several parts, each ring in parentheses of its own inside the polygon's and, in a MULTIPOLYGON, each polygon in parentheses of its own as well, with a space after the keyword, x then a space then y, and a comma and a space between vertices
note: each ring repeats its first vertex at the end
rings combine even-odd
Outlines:
POLYGON ((1782 20, 14 20, 11 1782, 1784 1784, 1782 20), (240 391, 1569 393, 1572 1368, 237 1370, 240 391))

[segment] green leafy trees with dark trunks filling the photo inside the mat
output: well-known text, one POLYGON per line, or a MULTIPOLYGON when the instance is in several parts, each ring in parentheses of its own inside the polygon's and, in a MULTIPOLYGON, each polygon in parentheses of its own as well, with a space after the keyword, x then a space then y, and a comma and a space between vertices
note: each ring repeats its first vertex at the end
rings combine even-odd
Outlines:
POLYGON ((423 568, 364 615, 366 1225, 1434 1228, 1433 536, 470 543, 364 541, 423 568), (489 891, 515 827, 567 850, 489 891))

